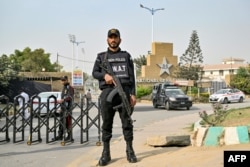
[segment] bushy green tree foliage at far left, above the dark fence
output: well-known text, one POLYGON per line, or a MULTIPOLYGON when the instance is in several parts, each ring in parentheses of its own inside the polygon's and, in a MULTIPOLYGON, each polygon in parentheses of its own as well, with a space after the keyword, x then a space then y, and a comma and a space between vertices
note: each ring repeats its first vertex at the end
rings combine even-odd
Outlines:
POLYGON ((62 68, 57 63, 51 64, 50 54, 43 49, 32 51, 29 47, 23 51, 15 50, 13 54, 0 57, 0 85, 7 86, 9 81, 16 79, 23 72, 56 72, 62 68))

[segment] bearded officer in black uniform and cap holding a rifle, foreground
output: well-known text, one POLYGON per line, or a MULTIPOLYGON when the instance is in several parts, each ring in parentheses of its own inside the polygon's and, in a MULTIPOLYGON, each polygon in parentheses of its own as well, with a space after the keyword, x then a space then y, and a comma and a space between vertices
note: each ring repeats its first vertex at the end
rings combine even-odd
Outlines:
MULTIPOLYGON (((110 64, 113 74, 120 80, 123 90, 131 104, 131 108, 136 104, 133 60, 128 52, 121 51, 119 47, 121 43, 119 30, 111 29, 108 31, 107 43, 109 45, 108 50, 97 55, 92 72, 93 77, 99 80, 99 88, 102 90, 100 95, 100 107, 103 119, 103 152, 99 160, 100 166, 107 165, 111 160, 110 140, 112 137, 113 119, 116 112, 113 107, 121 104, 121 97, 118 93, 113 97, 112 102, 107 102, 107 96, 114 89, 116 83, 112 75, 108 74, 101 66, 105 66, 105 63, 110 64)), ((137 158, 132 147, 133 124, 130 115, 128 115, 123 107, 119 108, 118 112, 122 122, 124 139, 127 144, 127 160, 130 163, 135 163, 137 162, 137 158)))

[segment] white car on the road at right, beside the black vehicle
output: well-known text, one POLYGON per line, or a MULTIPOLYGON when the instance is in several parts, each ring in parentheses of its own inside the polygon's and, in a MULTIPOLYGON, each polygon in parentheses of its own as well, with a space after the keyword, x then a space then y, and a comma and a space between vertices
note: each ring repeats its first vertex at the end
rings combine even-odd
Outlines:
POLYGON ((231 102, 240 102, 242 103, 245 100, 245 94, 236 88, 225 88, 220 89, 214 94, 210 95, 209 102, 211 103, 231 103, 231 102))

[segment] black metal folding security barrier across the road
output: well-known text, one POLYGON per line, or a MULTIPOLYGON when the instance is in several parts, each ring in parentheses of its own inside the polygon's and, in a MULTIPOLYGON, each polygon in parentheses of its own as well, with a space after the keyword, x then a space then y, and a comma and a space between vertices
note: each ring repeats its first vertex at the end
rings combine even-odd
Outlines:
POLYGON ((32 143, 42 142, 42 136, 45 134, 46 143, 55 142, 57 136, 57 129, 59 125, 63 127, 63 139, 61 145, 65 146, 66 143, 73 143, 73 136, 79 133, 80 143, 89 141, 90 128, 97 128, 98 141, 96 145, 100 145, 100 109, 99 99, 98 104, 90 102, 83 96, 80 98, 79 103, 73 103, 69 109, 65 108, 65 104, 57 103, 56 97, 51 95, 47 98, 46 103, 42 103, 39 96, 32 96, 28 103, 23 103, 19 107, 18 100, 24 102, 24 98, 20 95, 14 98, 14 103, 10 103, 7 96, 0 96, 0 100, 5 99, 6 104, 2 105, 0 109, 0 143, 10 142, 10 133, 13 134, 13 143, 24 142, 25 132, 28 131, 27 145, 32 143), (38 102, 37 104, 33 103, 38 102), (29 110, 30 116, 25 119, 24 112, 29 110), (46 111, 42 114, 41 111, 46 111), (90 112, 91 111, 91 112, 90 112), (61 116, 58 116, 59 113, 61 116), (66 128, 66 119, 70 119, 70 128, 66 128), (71 139, 66 140, 66 133, 71 134, 71 139), (4 136, 4 137, 3 137, 4 136))

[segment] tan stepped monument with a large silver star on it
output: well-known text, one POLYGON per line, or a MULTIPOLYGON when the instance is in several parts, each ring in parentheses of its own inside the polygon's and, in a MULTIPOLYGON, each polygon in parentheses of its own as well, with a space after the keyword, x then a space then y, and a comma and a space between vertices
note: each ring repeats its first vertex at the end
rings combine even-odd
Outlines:
POLYGON ((147 65, 142 66, 138 84, 152 85, 157 82, 176 82, 179 85, 192 86, 193 81, 175 80, 173 73, 178 65, 178 56, 173 55, 173 43, 153 42, 152 51, 147 55, 147 65))

